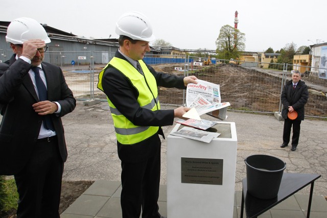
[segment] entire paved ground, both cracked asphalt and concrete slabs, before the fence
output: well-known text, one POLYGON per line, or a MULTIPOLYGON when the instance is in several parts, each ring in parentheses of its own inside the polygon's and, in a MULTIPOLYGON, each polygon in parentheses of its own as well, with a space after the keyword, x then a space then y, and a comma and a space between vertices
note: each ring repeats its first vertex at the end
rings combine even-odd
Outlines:
MULTIPOLYGON (((162 109, 173 107, 164 106, 162 109)), ((236 123, 238 136, 233 218, 240 217, 242 179, 246 177, 244 159, 253 154, 266 154, 282 159, 287 164, 287 173, 321 174, 321 178, 316 180, 314 185, 310 217, 327 217, 327 202, 324 199, 324 196, 327 196, 326 121, 303 121, 298 149, 291 152, 290 147, 279 148, 284 122, 278 121, 274 115, 231 111, 227 111, 227 115, 228 122, 236 123)), ((207 115, 202 118, 213 119, 207 115)), ((63 117, 63 123, 69 156, 63 179, 96 182, 68 207, 61 217, 121 217, 121 166, 116 153, 116 140, 108 104, 101 102, 94 106, 83 106, 83 102, 79 101, 75 111, 63 117)), ((164 127, 166 135, 171 130, 172 127, 164 127)), ((166 152, 167 141, 162 140, 158 202, 162 215, 167 215, 166 152)), ((310 185, 259 217, 306 217, 309 192, 310 185)))

